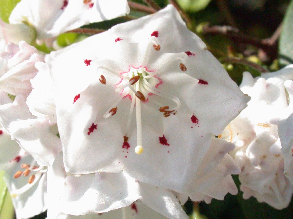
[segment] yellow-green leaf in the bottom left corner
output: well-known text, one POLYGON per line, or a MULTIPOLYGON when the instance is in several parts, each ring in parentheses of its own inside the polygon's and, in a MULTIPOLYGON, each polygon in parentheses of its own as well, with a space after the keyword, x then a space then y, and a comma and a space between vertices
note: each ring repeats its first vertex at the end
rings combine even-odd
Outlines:
POLYGON ((3 175, 4 172, 0 172, 0 219, 13 219, 14 208, 3 175))

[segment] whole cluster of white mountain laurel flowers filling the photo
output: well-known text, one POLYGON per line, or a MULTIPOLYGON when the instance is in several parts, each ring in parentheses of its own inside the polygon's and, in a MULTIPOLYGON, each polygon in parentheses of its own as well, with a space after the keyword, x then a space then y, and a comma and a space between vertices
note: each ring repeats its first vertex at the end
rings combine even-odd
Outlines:
POLYGON ((237 194, 232 174, 244 198, 286 207, 291 66, 244 73, 250 100, 172 5, 46 56, 28 44, 128 13, 124 0, 22 0, 1 21, 0 161, 16 217, 188 218, 188 198, 237 194))

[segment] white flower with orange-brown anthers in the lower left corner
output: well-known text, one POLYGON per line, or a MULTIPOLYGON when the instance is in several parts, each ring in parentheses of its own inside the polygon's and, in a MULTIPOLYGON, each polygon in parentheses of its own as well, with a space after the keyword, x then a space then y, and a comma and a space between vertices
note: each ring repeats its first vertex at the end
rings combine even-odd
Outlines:
MULTIPOLYGON (((7 94, 0 90, 1 105, 12 102, 7 94)), ((0 170, 4 170, 4 180, 12 194, 16 218, 31 218, 47 209, 46 173, 38 167, 34 158, 19 147, 5 129, 0 128, 0 170), (25 166, 23 164, 29 164, 25 166), (34 179, 33 179, 34 178, 34 179), (31 183, 29 183, 29 182, 31 183)))

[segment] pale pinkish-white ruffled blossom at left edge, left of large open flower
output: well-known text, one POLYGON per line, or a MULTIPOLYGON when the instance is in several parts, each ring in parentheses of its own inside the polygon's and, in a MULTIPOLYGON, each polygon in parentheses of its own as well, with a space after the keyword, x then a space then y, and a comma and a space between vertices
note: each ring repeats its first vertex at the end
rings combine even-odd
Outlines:
POLYGON ((24 41, 18 46, 7 43, 0 54, 0 88, 12 95, 29 94, 32 89, 30 79, 38 72, 34 64, 43 60, 44 56, 24 41))

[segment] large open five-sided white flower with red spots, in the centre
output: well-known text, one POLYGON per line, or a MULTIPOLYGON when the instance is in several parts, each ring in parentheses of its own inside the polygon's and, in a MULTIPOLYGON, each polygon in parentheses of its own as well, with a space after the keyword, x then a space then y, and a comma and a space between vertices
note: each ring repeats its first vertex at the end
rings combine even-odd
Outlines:
POLYGON ((205 48, 169 5, 48 55, 66 171, 123 169, 200 199, 238 173, 233 145, 213 135, 248 98, 205 48))

